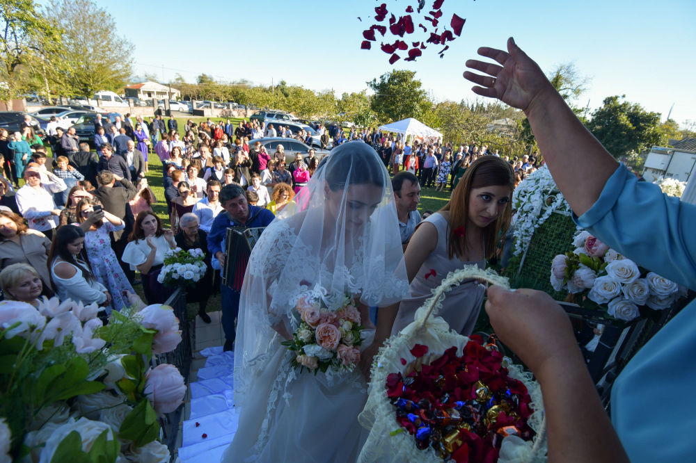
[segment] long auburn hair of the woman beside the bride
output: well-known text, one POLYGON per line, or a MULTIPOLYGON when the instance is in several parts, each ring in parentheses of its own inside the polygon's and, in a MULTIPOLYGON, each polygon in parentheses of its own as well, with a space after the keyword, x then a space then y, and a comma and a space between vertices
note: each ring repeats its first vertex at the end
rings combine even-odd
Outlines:
POLYGON ((455 255, 461 259, 466 253, 465 234, 460 230, 464 228, 466 232, 467 219, 469 216, 469 195, 472 188, 482 188, 484 186, 509 186, 510 201, 505 206, 505 211, 495 222, 491 222, 483 230, 484 254, 486 259, 490 259, 496 254, 498 238, 505 236, 507 227, 512 218, 512 190, 514 189, 514 172, 505 159, 498 156, 483 156, 477 159, 466 169, 461 176, 459 183, 452 191, 452 197, 441 211, 450 212, 448 223, 448 243, 447 254, 450 259, 455 255))

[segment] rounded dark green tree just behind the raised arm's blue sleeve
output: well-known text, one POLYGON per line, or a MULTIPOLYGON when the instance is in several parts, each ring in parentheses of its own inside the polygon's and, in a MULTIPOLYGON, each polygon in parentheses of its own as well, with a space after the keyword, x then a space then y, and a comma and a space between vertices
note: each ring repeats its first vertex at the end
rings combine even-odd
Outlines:
POLYGON ((640 104, 625 101, 626 95, 607 97, 592 113, 587 129, 617 159, 631 157, 663 138, 660 113, 645 111, 640 104))

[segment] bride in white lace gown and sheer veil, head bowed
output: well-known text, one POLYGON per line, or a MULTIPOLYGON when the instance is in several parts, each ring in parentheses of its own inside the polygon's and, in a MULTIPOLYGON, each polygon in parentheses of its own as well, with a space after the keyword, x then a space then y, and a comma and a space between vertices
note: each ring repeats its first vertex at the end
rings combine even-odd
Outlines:
MULTIPOLYGON (((374 328, 368 306, 395 310, 409 294, 391 182, 374 149, 361 141, 333 149, 295 201, 249 259, 235 349, 239 427, 223 462, 354 462, 367 435, 357 420, 367 398, 359 368, 300 372, 280 343, 299 323, 299 298, 322 295, 338 310, 351 295, 362 325, 374 328)), ((383 325, 371 346, 363 332, 363 371, 389 334, 383 325)))

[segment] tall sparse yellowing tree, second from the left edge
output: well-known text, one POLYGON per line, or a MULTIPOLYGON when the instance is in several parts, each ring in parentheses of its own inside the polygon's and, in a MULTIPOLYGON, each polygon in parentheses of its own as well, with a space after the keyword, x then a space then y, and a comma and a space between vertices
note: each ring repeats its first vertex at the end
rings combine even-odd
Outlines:
POLYGON ((116 33, 116 22, 90 0, 52 0, 44 17, 63 29, 63 44, 48 55, 54 82, 68 95, 121 92, 132 75, 133 44, 116 33))

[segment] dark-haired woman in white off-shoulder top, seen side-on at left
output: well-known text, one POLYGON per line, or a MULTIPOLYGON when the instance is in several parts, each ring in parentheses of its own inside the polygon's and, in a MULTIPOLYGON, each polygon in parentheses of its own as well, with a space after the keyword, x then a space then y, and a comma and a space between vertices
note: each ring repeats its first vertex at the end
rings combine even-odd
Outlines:
POLYGON ((111 304, 111 294, 97 281, 84 251, 85 232, 77 225, 63 225, 48 254, 51 281, 61 300, 83 304, 111 304))

